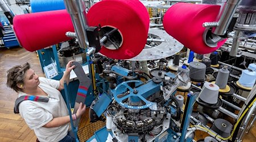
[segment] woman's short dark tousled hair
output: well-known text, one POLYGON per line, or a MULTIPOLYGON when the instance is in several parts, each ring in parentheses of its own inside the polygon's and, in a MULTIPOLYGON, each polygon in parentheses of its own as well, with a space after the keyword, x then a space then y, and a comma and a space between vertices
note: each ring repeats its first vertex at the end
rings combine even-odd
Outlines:
POLYGON ((21 91, 17 84, 24 83, 25 73, 30 69, 30 64, 26 62, 23 65, 16 65, 13 68, 7 70, 7 82, 6 85, 16 92, 21 91))

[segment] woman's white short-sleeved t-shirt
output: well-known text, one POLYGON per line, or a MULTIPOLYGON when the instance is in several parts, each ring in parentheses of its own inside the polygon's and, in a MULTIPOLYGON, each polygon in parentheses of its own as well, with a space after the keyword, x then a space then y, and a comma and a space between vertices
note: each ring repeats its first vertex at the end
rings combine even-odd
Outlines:
MULTIPOLYGON (((28 127, 34 130, 35 135, 40 142, 60 141, 67 136, 69 123, 53 128, 42 127, 53 118, 69 115, 66 103, 61 96, 60 91, 57 90, 60 81, 50 80, 43 77, 40 77, 39 81, 39 87, 46 92, 49 102, 23 101, 19 105, 19 114, 24 118, 28 127)), ((19 97, 22 95, 27 94, 19 92, 19 97)))

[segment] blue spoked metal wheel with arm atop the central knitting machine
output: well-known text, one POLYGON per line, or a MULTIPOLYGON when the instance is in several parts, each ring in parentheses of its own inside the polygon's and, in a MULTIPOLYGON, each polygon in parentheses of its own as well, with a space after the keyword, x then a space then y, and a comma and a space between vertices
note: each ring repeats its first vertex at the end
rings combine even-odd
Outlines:
POLYGON ((115 101, 119 103, 119 105, 130 108, 130 109, 143 109, 152 106, 154 103, 147 101, 147 97, 150 95, 156 93, 157 91, 160 91, 160 85, 163 83, 155 83, 152 80, 149 80, 147 83, 143 84, 142 81, 139 80, 131 80, 131 81, 125 81, 117 85, 115 89, 112 90, 113 96, 115 98, 115 101), (129 86, 129 83, 135 83, 135 89, 131 88, 129 86), (119 94, 124 94, 127 91, 129 91, 129 94, 123 95, 122 97, 118 98, 119 94), (146 105, 144 106, 129 106, 122 101, 129 98, 129 97, 134 97, 133 99, 142 100, 146 105))

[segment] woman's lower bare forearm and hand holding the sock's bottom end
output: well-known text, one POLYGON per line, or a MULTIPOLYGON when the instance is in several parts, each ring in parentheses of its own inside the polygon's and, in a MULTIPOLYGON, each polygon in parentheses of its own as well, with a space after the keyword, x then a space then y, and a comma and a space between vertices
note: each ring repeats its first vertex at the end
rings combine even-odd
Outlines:
MULTIPOLYGON (((77 118, 80 118, 82 114, 84 114, 86 109, 86 106, 82 103, 80 103, 79 109, 76 112, 76 116, 77 118)), ((43 127, 46 128, 52 128, 52 127, 59 127, 62 126, 64 124, 67 124, 70 122, 70 117, 68 116, 62 116, 59 118, 53 118, 50 122, 48 122, 47 124, 45 124, 43 127)))

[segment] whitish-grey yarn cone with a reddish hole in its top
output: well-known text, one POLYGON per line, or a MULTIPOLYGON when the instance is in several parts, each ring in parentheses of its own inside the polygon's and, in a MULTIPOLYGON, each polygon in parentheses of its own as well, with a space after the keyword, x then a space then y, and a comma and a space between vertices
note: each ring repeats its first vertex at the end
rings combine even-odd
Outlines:
POLYGON ((216 104, 218 102, 218 87, 216 84, 205 82, 203 89, 199 94, 201 101, 209 104, 216 104))

